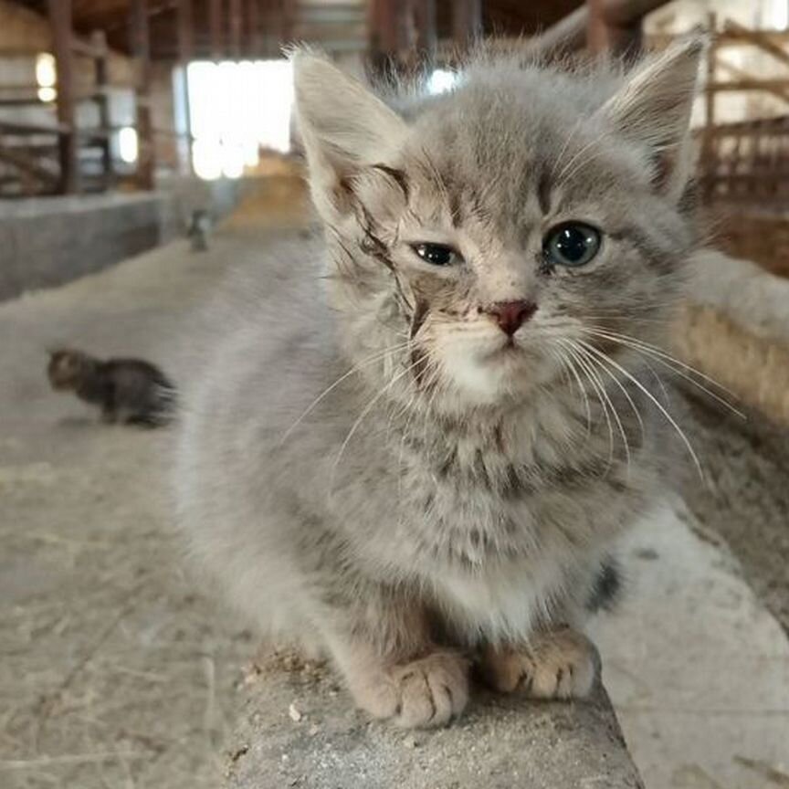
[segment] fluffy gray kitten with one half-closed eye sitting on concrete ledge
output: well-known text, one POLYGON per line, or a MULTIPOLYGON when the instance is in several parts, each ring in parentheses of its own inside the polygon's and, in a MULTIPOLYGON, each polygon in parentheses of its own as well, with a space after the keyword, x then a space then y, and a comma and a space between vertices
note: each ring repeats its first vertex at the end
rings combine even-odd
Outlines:
POLYGON ((293 58, 325 244, 227 297, 186 395, 180 519, 235 603, 375 717, 447 723, 472 663, 505 692, 593 685, 580 628, 670 429, 642 360, 695 243, 702 48, 627 74, 481 58, 394 103, 293 58))

